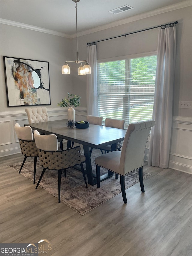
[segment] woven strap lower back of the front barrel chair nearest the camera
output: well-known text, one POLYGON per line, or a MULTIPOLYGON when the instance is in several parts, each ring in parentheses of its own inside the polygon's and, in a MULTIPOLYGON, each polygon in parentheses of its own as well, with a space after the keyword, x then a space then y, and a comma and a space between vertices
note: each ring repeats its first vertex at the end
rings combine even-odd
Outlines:
POLYGON ((67 169, 82 162, 83 156, 81 156, 80 147, 56 152, 38 150, 41 166, 49 170, 67 169))

